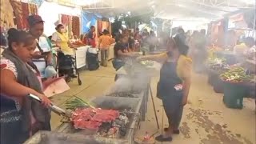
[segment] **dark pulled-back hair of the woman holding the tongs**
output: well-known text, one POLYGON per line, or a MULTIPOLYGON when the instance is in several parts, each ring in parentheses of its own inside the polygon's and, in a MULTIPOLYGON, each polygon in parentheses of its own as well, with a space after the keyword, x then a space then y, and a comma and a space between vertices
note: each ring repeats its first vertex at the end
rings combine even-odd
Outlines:
POLYGON ((24 46, 30 46, 33 44, 35 38, 28 32, 24 30, 16 30, 14 28, 11 28, 8 30, 8 46, 10 50, 12 50, 11 44, 13 42, 16 42, 17 44, 24 43, 24 46))

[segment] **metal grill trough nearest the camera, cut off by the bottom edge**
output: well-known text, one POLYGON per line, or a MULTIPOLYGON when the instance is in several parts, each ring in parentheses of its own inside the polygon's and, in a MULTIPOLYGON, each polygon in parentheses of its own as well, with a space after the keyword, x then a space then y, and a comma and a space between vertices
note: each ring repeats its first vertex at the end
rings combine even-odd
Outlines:
POLYGON ((126 140, 98 138, 93 135, 63 134, 53 131, 38 131, 24 144, 126 144, 126 140))

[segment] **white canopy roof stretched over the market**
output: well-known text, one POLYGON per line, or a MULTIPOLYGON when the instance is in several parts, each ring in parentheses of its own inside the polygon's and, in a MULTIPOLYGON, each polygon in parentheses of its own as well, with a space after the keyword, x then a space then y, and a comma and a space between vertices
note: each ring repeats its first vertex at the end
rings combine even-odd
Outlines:
MULTIPOLYGON (((255 9, 255 0, 46 0, 80 7, 103 17, 114 17, 129 11, 146 14, 154 10, 154 18, 177 23, 205 25, 238 10, 255 9)), ((178 25, 178 24, 177 24, 178 25)))

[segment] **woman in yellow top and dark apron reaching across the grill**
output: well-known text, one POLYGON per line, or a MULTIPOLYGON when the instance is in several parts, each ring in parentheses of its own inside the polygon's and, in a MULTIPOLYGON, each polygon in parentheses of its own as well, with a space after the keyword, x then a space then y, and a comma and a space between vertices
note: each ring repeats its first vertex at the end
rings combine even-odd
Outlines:
POLYGON ((188 46, 178 37, 167 42, 167 52, 138 58, 163 62, 158 82, 158 97, 162 98, 164 110, 169 122, 165 133, 156 137, 157 141, 170 142, 172 134, 179 134, 183 106, 187 103, 190 91, 190 73, 192 61, 186 57, 188 46))

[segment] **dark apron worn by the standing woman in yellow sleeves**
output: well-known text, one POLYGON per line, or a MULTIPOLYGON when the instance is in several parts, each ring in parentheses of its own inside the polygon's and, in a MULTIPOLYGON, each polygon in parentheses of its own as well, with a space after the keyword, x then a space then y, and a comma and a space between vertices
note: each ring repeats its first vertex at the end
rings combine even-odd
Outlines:
POLYGON ((178 89, 178 85, 182 85, 182 79, 179 78, 177 74, 177 62, 166 61, 160 70, 158 94, 162 98, 162 104, 166 112, 169 125, 173 126, 174 129, 178 129, 183 112, 183 90, 178 89))

